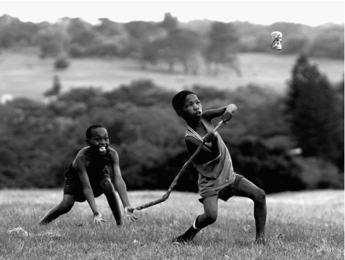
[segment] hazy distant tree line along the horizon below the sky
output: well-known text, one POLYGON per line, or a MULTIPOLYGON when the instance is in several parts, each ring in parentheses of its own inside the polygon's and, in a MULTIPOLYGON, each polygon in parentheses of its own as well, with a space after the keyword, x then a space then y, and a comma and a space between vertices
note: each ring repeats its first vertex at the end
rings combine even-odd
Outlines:
POLYGON ((238 52, 270 52, 270 33, 283 32, 283 54, 344 59, 344 24, 311 27, 298 23, 261 26, 248 22, 190 21, 181 23, 170 13, 160 22, 117 23, 107 18, 92 25, 80 18, 63 17, 56 23, 21 22, 0 17, 0 49, 35 46, 39 55, 55 57, 57 68, 69 58, 118 57, 137 59, 143 69, 165 62, 173 71, 179 63, 185 73, 197 74, 205 65, 217 75, 220 65, 233 68, 239 77, 238 52))

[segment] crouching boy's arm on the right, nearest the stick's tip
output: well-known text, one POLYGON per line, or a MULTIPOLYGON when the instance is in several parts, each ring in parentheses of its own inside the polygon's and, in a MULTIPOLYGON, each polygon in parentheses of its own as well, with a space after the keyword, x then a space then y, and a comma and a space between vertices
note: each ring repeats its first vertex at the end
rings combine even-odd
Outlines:
POLYGON ((115 150, 113 150, 111 154, 112 154, 111 167, 112 167, 112 172, 114 173, 114 185, 117 192, 119 193, 119 197, 122 201, 122 205, 125 208, 125 217, 128 217, 132 221, 135 221, 137 217, 133 213, 134 208, 130 206, 126 183, 124 182, 124 179, 122 178, 122 175, 121 175, 121 170, 119 166, 119 154, 117 154, 115 150))

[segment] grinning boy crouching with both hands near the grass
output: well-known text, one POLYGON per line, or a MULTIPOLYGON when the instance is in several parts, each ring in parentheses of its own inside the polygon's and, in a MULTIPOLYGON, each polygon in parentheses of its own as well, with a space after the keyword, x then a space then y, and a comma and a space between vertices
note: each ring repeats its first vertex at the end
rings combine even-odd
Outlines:
POLYGON ((90 126, 86 130, 86 143, 88 146, 77 153, 75 160, 65 172, 62 201, 48 211, 39 221, 40 224, 50 223, 61 214, 66 214, 75 201, 88 201, 93 212, 93 221, 101 224, 105 220, 97 208, 95 197, 105 194, 117 225, 121 225, 121 210, 115 188, 125 208, 125 217, 132 221, 137 219, 133 213, 134 208, 130 207, 128 201, 126 183, 119 168, 119 155, 109 146, 106 128, 101 125, 90 126), (114 173, 115 188, 110 180, 108 166, 114 173))

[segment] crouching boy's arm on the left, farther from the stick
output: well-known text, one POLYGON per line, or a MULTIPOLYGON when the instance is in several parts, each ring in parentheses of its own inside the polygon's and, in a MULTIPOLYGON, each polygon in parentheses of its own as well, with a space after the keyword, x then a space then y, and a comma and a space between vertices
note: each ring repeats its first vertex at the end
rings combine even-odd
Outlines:
POLYGON ((80 156, 77 156, 75 159, 75 163, 77 164, 77 170, 79 172, 79 178, 81 181, 81 185, 83 186, 83 194, 86 197, 86 200, 88 201, 88 204, 90 205, 90 208, 93 213, 93 221, 96 224, 100 224, 101 221, 105 221, 101 217, 101 212, 99 212, 96 201, 95 201, 95 196, 93 194, 91 185, 90 185, 90 180, 88 179, 88 174, 86 172, 86 167, 85 167, 85 159, 81 158, 80 156))

